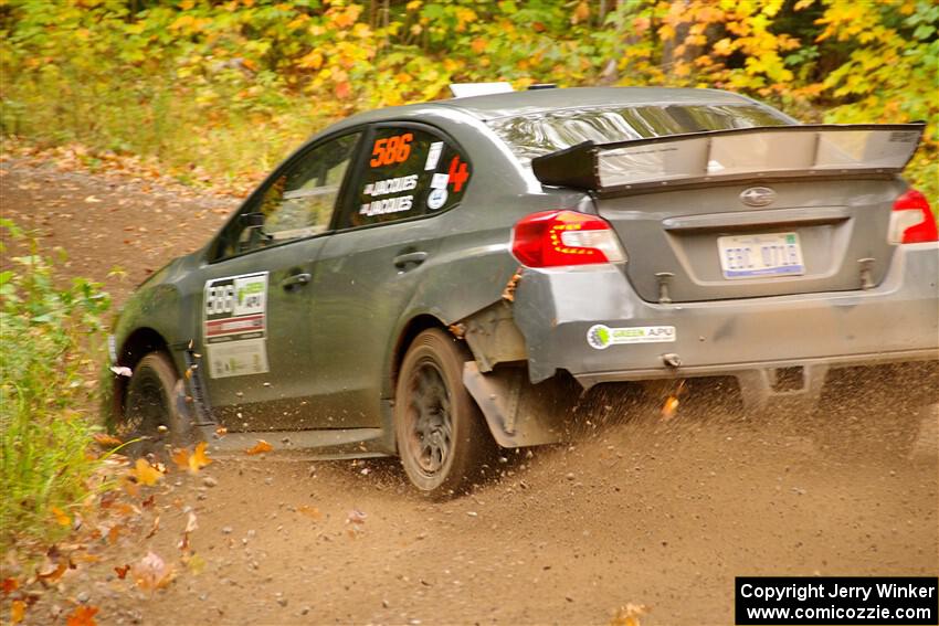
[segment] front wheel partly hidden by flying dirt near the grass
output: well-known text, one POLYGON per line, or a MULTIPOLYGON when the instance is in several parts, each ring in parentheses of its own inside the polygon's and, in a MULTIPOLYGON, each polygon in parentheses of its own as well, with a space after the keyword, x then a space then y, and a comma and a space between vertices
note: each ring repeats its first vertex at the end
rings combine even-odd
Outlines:
POLYGON ((124 402, 124 421, 118 435, 131 456, 165 456, 167 448, 184 446, 189 433, 176 406, 180 378, 169 357, 150 352, 134 368, 124 402), (165 428, 160 428, 165 426, 165 428))

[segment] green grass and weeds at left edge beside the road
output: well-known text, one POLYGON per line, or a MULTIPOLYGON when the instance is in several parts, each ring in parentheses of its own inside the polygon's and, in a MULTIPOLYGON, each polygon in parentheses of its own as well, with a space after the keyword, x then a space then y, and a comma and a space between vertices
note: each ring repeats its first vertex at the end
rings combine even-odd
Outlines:
MULTIPOLYGON (((96 487, 89 453, 89 372, 108 298, 98 285, 55 280, 35 242, 0 227, 29 254, 0 273, 0 548, 65 532, 53 507, 76 509, 96 487)), ((4 240, 7 240, 4 233, 4 240)), ((6 253, 4 253, 6 254, 6 253)))

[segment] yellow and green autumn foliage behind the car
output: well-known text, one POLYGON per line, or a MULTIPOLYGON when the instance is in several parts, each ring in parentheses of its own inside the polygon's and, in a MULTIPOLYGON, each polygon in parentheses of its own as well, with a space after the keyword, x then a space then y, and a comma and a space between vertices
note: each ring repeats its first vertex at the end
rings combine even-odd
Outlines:
POLYGON ((151 158, 244 190, 357 110, 510 81, 732 89, 808 121, 930 123, 908 176, 939 200, 929 0, 6 0, 2 132, 151 158))

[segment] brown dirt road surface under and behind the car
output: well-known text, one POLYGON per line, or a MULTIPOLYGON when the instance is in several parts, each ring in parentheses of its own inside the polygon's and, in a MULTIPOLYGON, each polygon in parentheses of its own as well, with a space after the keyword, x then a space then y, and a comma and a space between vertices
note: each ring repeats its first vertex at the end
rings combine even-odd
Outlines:
MULTIPOLYGON (((236 204, 15 161, 0 183, 4 217, 40 229, 68 252, 66 272, 118 300, 236 204), (106 278, 114 265, 129 278, 106 278)), ((62 624, 56 611, 85 602, 99 624, 608 624, 632 603, 648 607, 644 626, 732 624, 737 575, 939 572, 929 442, 910 458, 888 428, 832 446, 843 416, 639 413, 572 446, 508 454, 499 478, 443 503, 392 459, 217 458, 156 488, 151 539, 123 538, 68 572, 28 620, 62 624), (172 560, 190 511, 204 566, 178 566, 155 593, 115 575, 148 550, 172 560)))

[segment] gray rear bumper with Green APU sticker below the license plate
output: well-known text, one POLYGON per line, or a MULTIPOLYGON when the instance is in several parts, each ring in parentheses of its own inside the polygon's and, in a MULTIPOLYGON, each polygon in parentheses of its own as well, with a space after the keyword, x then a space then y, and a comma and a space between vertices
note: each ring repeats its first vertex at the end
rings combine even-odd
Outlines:
POLYGON ((768 371, 803 367, 808 385, 830 367, 939 359, 938 283, 937 243, 898 246, 885 278, 866 291, 708 303, 647 303, 613 266, 526 269, 515 320, 536 383, 567 370, 584 386, 728 374, 764 386, 768 371), (651 342, 626 333, 629 342, 598 348, 588 341, 598 325, 663 335, 651 342))

